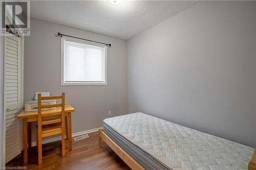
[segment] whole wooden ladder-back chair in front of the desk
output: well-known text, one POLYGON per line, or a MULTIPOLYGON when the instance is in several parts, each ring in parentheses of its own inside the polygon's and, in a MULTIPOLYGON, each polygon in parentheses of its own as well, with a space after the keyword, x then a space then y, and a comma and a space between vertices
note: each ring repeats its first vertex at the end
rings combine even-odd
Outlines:
MULTIPOLYGON (((52 114, 51 114, 52 116, 52 114)), ((42 164, 42 138, 47 136, 52 136, 56 134, 61 134, 61 148, 62 148, 62 157, 65 156, 65 93, 59 96, 41 96, 38 94, 38 125, 37 129, 37 151, 38 151, 38 165, 42 164), (41 105, 42 100, 52 100, 52 99, 61 99, 60 104, 55 105, 41 105), (55 119, 47 114, 44 114, 42 109, 46 108, 55 108, 61 107, 60 112, 56 112, 54 115, 57 116, 55 119), (43 117, 43 121, 42 121, 43 117), (49 118, 48 118, 49 117, 49 118)))

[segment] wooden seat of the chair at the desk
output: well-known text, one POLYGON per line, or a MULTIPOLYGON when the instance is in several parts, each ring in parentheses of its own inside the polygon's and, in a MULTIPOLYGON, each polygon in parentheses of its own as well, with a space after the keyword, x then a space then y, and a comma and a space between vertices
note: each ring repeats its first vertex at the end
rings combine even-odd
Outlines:
MULTIPOLYGON (((36 129, 38 129, 38 126, 36 126, 36 129)), ((61 133, 61 123, 56 123, 56 124, 51 124, 51 125, 43 125, 41 132, 42 132, 42 137, 60 134, 61 133)))

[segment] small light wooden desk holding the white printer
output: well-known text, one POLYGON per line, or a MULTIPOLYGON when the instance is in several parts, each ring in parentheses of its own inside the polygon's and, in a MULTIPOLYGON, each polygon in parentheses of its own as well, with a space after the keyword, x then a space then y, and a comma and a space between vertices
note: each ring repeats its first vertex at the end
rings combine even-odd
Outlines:
MULTIPOLYGON (((58 117, 54 114, 55 112, 61 111, 61 108, 43 110, 42 120, 44 115, 47 115, 47 119, 58 117)), ((66 120, 66 133, 67 139, 69 139, 69 150, 72 151, 72 124, 71 124, 71 113, 75 109, 71 105, 65 105, 65 120, 66 120)), ((18 119, 23 119, 23 163, 28 164, 28 145, 31 147, 31 122, 37 121, 37 111, 25 112, 24 110, 17 116, 18 119)))

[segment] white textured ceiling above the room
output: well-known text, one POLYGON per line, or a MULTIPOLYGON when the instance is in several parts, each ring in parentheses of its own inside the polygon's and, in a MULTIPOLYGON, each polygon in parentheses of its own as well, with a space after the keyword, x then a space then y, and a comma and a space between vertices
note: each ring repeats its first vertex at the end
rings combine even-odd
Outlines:
POLYGON ((140 32, 196 1, 31 1, 31 17, 121 39, 140 32))

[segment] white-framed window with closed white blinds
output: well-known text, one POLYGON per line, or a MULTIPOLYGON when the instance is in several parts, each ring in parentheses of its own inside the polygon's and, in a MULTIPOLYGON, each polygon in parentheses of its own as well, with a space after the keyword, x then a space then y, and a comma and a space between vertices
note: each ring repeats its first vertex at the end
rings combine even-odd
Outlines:
POLYGON ((106 46, 63 36, 61 85, 106 85, 106 46))

